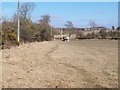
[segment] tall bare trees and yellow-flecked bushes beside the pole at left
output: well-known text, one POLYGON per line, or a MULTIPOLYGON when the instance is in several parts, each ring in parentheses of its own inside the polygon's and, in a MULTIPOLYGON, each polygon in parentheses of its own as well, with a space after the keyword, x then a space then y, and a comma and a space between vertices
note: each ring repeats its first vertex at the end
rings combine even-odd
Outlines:
MULTIPOLYGON (((33 41, 49 41, 52 39, 50 16, 43 15, 38 23, 31 20, 31 13, 34 10, 33 3, 23 3, 20 6, 20 43, 33 41)), ((17 22, 18 15, 15 13, 11 20, 3 19, 1 21, 0 44, 2 48, 18 45, 17 42, 17 22)))

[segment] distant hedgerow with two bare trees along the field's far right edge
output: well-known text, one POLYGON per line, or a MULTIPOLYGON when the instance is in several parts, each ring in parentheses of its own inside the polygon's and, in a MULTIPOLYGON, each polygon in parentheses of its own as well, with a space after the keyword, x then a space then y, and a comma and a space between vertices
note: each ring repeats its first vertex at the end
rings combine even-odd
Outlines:
POLYGON ((111 29, 98 27, 94 21, 90 21, 89 25, 90 30, 85 30, 85 28, 78 30, 71 21, 67 21, 64 33, 69 33, 69 36, 76 34, 76 39, 120 39, 120 27, 115 28, 112 26, 111 29))

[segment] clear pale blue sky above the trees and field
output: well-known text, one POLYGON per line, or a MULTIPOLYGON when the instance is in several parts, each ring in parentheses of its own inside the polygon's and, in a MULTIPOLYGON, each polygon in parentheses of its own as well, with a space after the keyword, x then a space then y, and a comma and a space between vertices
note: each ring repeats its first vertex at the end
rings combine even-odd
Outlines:
MULTIPOLYGON (((50 24, 54 27, 65 27, 66 21, 72 21, 74 27, 90 27, 91 20, 98 26, 118 26, 117 2, 34 2, 34 5, 31 14, 33 22, 48 14, 51 16, 50 24)), ((2 3, 3 17, 10 19, 15 12, 16 2, 2 3)))

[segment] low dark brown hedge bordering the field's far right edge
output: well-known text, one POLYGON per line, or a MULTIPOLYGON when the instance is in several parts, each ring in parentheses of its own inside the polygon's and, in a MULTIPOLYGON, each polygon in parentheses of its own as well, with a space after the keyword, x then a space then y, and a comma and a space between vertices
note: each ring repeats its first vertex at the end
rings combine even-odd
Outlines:
POLYGON ((101 29, 99 32, 87 33, 84 35, 84 31, 79 31, 76 33, 77 39, 120 39, 120 30, 106 30, 101 29))

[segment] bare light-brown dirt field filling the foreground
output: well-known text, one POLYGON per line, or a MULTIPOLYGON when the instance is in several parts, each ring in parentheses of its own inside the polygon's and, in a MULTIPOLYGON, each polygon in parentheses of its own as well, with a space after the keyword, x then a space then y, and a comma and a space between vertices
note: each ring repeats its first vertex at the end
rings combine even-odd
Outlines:
POLYGON ((117 41, 23 44, 3 52, 3 87, 115 88, 117 41))

